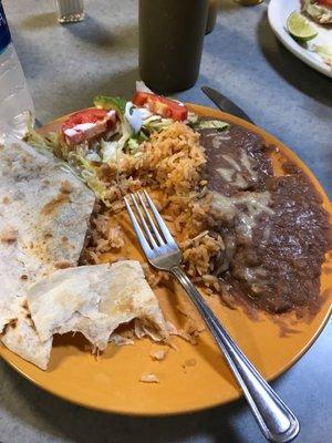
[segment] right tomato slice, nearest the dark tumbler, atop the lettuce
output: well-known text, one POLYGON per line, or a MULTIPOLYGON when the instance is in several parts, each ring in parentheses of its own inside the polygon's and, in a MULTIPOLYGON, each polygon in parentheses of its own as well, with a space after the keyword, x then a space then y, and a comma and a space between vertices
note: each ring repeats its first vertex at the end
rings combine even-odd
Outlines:
POLYGON ((133 97, 133 103, 138 107, 146 107, 151 112, 162 115, 165 119, 183 122, 188 116, 188 110, 184 104, 166 99, 163 95, 136 92, 133 97))

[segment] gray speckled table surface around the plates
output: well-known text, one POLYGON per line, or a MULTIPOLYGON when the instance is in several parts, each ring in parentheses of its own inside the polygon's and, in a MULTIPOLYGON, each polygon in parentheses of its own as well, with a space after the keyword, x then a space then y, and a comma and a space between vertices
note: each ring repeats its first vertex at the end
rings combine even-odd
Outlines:
MULTIPOLYGON (((42 122, 89 106, 97 93, 129 97, 137 73, 137 2, 85 0, 82 23, 61 27, 53 1, 3 0, 17 51, 42 122)), ((181 100, 210 105, 209 84, 236 101, 259 126, 291 146, 332 193, 332 83, 289 53, 272 34, 267 3, 221 0, 206 37, 200 76, 181 100)), ((299 416, 297 442, 332 441, 332 326, 273 383, 299 416)), ((128 399, 129 401, 129 399, 128 399)), ((0 362, 0 442, 259 443, 243 401, 174 418, 103 414, 49 395, 0 362)))

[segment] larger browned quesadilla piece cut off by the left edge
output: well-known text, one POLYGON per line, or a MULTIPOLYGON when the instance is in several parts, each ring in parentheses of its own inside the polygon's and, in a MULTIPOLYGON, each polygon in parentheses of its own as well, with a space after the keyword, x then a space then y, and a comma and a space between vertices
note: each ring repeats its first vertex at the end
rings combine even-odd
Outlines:
POLYGON ((17 140, 0 146, 0 332, 2 342, 44 365, 25 306, 28 288, 59 268, 76 266, 94 207, 93 193, 52 154, 17 140))

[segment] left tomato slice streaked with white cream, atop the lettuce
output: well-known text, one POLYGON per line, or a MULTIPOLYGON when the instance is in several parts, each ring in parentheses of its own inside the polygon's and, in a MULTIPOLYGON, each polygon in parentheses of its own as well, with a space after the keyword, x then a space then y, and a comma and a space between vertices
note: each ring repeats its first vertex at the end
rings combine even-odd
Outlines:
POLYGON ((91 109, 72 114, 61 130, 66 143, 73 146, 112 130, 116 121, 115 111, 91 109))

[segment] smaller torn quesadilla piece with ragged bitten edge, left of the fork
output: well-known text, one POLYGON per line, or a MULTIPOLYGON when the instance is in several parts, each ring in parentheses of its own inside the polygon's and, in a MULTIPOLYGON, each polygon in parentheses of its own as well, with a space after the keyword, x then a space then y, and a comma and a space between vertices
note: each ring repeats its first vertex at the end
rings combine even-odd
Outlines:
POLYGON ((155 340, 170 331, 135 260, 58 270, 29 289, 28 306, 42 342, 55 333, 82 332, 103 351, 113 331, 134 319, 155 340))

